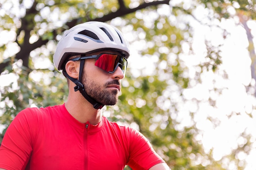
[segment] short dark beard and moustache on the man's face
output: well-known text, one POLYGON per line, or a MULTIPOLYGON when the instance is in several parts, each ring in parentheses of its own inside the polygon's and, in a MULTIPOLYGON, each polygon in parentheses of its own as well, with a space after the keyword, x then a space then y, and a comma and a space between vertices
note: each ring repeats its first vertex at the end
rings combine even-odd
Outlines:
POLYGON ((110 84, 118 84, 120 82, 117 79, 113 81, 105 83, 103 86, 99 83, 92 81, 88 81, 85 75, 83 77, 83 86, 85 88, 85 92, 92 97, 97 102, 100 102, 104 105, 115 105, 118 102, 119 91, 118 90, 109 90, 106 88, 110 84))

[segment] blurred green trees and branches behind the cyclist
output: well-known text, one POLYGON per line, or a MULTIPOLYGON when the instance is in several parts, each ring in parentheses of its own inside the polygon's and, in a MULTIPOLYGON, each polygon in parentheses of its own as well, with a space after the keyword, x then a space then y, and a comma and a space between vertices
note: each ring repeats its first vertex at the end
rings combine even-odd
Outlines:
MULTIPOLYGON (((65 102, 66 80, 52 63, 56 43, 66 29, 96 20, 117 26, 132 50, 119 103, 103 108, 103 115, 140 130, 172 170, 244 169, 246 160, 239 155, 249 155, 255 148, 251 134, 242 129, 243 142, 216 159, 214 148, 204 148, 204 131, 198 128, 201 104, 215 108, 214 96, 222 94, 224 87, 213 80, 213 88, 207 91, 213 95, 207 99, 184 95, 186 89, 202 83, 205 73, 228 78, 219 69, 223 44, 205 38, 200 46, 204 60, 193 66, 193 74, 184 56, 196 57, 193 23, 212 28, 223 20, 235 20, 247 35, 252 82, 244 88, 254 99, 256 60, 247 23, 255 20, 255 9, 255 0, 0 0, 0 142, 20 110, 65 102), (150 70, 132 67, 147 62, 150 70)), ((224 42, 229 32, 219 29, 224 42)), ((232 112, 227 119, 241 114, 254 119, 253 110, 255 104, 249 112, 232 112)), ((205 113, 204 117, 205 123, 220 124, 216 116, 205 113)))

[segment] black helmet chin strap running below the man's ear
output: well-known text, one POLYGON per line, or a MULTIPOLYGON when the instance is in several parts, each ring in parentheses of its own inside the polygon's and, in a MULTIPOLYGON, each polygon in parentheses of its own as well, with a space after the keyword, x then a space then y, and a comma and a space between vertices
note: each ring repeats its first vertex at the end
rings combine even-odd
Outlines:
POLYGON ((85 60, 81 60, 80 62, 80 71, 79 71, 79 79, 74 79, 73 77, 70 77, 65 70, 63 70, 63 74, 68 77, 76 86, 74 86, 74 91, 80 91, 80 93, 83 95, 85 99, 90 102, 95 109, 101 109, 104 104, 101 104, 100 102, 97 102, 92 97, 90 97, 86 92, 83 84, 81 83, 82 73, 83 73, 83 66, 84 66, 85 60))

